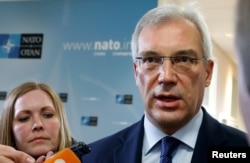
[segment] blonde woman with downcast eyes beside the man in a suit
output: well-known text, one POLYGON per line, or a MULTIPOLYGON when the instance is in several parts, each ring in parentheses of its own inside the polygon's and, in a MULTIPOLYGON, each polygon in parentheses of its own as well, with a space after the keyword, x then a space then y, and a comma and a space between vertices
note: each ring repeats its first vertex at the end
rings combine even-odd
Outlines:
MULTIPOLYGON (((24 162, 42 163, 53 153, 70 147, 72 141, 63 104, 51 87, 26 82, 9 93, 0 119, 1 151, 18 150, 15 152, 24 162)), ((21 163, 15 158, 18 156, 0 152, 0 162, 21 163)))

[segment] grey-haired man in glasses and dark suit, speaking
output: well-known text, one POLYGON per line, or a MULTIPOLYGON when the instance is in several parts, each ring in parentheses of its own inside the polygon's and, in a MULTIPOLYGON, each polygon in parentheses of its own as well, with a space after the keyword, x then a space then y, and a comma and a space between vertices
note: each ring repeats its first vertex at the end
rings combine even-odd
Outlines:
POLYGON ((201 106, 214 62, 206 23, 194 4, 147 12, 131 46, 145 116, 90 144, 84 163, 157 163, 166 136, 180 142, 169 154, 173 163, 206 163, 210 147, 248 146, 243 132, 219 123, 201 106))

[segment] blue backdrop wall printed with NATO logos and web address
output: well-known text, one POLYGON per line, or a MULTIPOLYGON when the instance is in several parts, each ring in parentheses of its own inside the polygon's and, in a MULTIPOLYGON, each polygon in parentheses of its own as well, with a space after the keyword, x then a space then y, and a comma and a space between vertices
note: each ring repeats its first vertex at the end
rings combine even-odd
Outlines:
MULTIPOLYGON (((139 120, 130 39, 156 0, 0 3, 0 93, 25 81, 63 97, 70 127, 86 143, 139 120)), ((1 105, 3 100, 0 101, 1 105)))

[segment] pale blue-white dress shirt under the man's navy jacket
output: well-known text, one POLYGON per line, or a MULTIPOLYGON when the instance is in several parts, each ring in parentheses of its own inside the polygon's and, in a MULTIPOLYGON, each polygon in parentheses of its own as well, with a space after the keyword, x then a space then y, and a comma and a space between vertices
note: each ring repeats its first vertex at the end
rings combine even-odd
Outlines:
MULTIPOLYGON (((172 137, 180 140, 182 143, 173 153, 173 163, 190 163, 193 150, 197 140, 198 132, 201 126, 203 112, 199 112, 184 127, 176 131, 172 137)), ((142 147, 142 163, 159 163, 161 153, 161 143, 158 143, 163 137, 167 136, 161 130, 156 128, 147 118, 145 112, 144 118, 144 138, 142 147)))

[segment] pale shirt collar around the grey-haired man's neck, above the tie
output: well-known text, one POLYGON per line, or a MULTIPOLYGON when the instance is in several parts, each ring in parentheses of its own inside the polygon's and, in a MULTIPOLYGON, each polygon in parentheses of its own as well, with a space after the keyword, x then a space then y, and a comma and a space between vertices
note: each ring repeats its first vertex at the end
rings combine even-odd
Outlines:
MULTIPOLYGON (((145 113, 146 114, 146 113, 145 113)), ((172 136, 181 140, 183 143, 194 149, 198 132, 203 118, 202 109, 181 129, 176 131, 172 136)), ((144 118, 144 140, 143 154, 147 154, 163 137, 167 136, 164 132, 155 127, 145 116, 144 118)))

